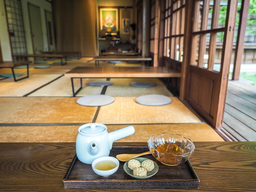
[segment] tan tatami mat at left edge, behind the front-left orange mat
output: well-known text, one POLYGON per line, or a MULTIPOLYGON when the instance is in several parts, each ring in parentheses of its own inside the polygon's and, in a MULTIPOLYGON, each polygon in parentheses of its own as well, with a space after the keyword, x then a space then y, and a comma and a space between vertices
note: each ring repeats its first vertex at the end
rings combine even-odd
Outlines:
POLYGON ((13 78, 4 79, 0 81, 0 96, 24 96, 59 76, 60 74, 30 75, 17 82, 13 78))

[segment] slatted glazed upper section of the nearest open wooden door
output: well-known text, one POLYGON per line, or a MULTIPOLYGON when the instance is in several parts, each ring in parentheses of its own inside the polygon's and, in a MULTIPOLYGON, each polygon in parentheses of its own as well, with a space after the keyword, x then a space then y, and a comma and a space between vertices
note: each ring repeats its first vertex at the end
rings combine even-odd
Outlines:
MULTIPOLYGON (((191 65, 207 70, 220 71, 225 28, 220 23, 219 12, 220 7, 226 4, 227 2, 221 3, 220 0, 195 1, 191 65)), ((226 18, 226 16, 222 17, 226 18)))

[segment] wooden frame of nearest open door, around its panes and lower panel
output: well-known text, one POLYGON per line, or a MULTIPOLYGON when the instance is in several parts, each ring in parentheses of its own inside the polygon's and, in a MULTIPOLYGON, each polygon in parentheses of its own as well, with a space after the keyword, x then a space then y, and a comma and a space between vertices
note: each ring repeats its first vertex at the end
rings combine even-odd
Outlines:
MULTIPOLYGON (((220 72, 214 72, 213 70, 201 69, 200 67, 196 67, 191 64, 191 39, 192 39, 192 20, 193 20, 193 12, 194 12, 194 1, 188 1, 186 9, 186 28, 184 33, 184 55, 185 57, 182 62, 182 78, 181 78, 181 96, 180 99, 185 99, 189 105, 191 105, 197 112, 199 112, 213 127, 218 128, 222 126, 223 115, 224 115, 224 105, 226 99, 227 92, 227 82, 228 82, 228 74, 229 74, 229 66, 232 54, 232 44, 233 44, 233 36, 234 36, 234 28, 235 28, 235 19, 236 19, 236 11, 237 10, 237 0, 231 2, 228 0, 228 9, 226 16, 226 24, 224 28, 224 42, 222 46, 222 58, 221 58, 221 69, 220 72), (191 11, 192 10, 192 11, 191 11), (185 40, 186 39, 186 40, 185 40), (193 70, 197 70, 197 73, 202 76, 211 76, 213 80, 215 80, 217 85, 212 87, 212 100, 208 105, 215 105, 214 108, 210 109, 209 114, 204 111, 200 105, 197 105, 189 98, 190 93, 190 82, 191 82, 191 74, 190 72, 193 70), (210 115, 212 114, 212 116, 210 115)), ((200 34, 200 33, 199 33, 200 34)))

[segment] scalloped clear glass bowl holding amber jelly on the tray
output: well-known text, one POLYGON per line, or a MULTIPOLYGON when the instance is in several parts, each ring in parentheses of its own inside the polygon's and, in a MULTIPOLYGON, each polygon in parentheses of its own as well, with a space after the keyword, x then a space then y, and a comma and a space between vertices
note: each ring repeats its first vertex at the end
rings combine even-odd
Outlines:
POLYGON ((195 145, 181 135, 162 133, 149 138, 148 148, 155 159, 165 165, 175 166, 185 163, 190 158, 195 145))

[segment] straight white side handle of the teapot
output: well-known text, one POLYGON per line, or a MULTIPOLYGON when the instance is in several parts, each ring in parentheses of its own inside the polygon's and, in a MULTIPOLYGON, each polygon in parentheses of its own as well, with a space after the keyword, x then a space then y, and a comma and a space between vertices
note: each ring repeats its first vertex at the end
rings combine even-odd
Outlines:
POLYGON ((113 131, 109 133, 109 149, 112 149, 112 144, 119 140, 122 139, 124 137, 130 136, 135 132, 135 129, 133 126, 128 126, 128 127, 124 127, 122 129, 113 131))

